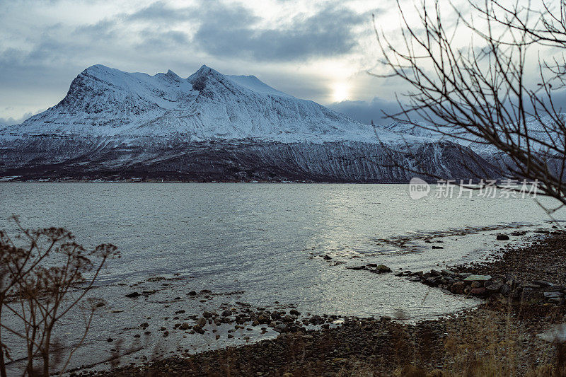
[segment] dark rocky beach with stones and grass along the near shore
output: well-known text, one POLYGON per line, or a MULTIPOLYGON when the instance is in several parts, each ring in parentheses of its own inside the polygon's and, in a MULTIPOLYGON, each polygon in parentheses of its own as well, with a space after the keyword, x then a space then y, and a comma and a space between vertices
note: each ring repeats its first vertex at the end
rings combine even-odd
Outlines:
MULTIPOLYGON (((513 232, 501 233, 504 243, 513 232)), ((515 234, 515 236, 519 236, 515 234)), ((79 376, 562 376, 566 336, 566 234, 540 231, 519 246, 494 250, 485 262, 441 271, 388 272, 445 294, 482 298, 477 308, 434 320, 411 322, 405 313, 379 318, 308 315, 295 308, 253 308, 245 303, 223 311, 204 311, 195 323, 178 322, 171 332, 279 333, 274 339, 193 353, 179 350, 165 357, 144 357, 129 366, 79 376), (489 374, 486 374, 490 371, 489 374)), ((190 292, 204 295, 212 292, 190 292)), ((426 298, 424 298, 426 300, 426 298)), ((146 331, 148 323, 139 324, 146 331)), ((224 336, 225 334, 223 334, 224 336)), ((216 335, 216 339, 220 335, 216 335)), ((246 336, 243 336, 246 340, 246 336)), ((112 363, 110 363, 112 364, 112 363)))

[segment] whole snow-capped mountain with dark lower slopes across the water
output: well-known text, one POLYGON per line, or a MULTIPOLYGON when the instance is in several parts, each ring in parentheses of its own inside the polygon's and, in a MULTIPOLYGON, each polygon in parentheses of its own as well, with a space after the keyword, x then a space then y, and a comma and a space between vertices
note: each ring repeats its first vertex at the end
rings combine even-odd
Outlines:
POLYGON ((95 65, 65 98, 0 129, 0 175, 404 182, 496 170, 434 135, 371 127, 207 66, 183 79, 95 65))

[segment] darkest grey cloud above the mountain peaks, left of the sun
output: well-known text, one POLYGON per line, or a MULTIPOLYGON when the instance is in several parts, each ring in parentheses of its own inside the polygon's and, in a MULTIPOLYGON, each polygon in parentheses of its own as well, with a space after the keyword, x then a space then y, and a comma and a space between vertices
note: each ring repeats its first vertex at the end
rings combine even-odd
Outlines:
MULTIPOLYGON (((218 3, 217 3, 218 4, 218 3)), ((369 22, 340 6, 327 6, 316 15, 296 17, 278 29, 254 28, 248 9, 218 6, 194 37, 203 50, 216 56, 253 57, 262 61, 297 60, 350 52, 357 45, 352 28, 369 22)))

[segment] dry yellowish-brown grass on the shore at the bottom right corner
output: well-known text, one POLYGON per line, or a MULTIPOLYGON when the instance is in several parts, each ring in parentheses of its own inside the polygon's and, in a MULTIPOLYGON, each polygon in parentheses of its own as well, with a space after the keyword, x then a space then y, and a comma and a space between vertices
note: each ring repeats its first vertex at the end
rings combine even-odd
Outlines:
MULTIPOLYGON (((465 315, 449 321, 444 348, 441 354, 435 355, 427 354, 426 334, 397 327, 398 332, 391 337, 391 347, 395 350, 395 359, 405 359, 405 364, 400 363, 393 370, 393 376, 566 376, 566 344, 545 344, 536 340, 511 312, 509 304, 507 313, 483 310, 481 315, 465 315), (429 361, 434 359, 439 365, 431 367, 429 361)), ((353 361, 338 376, 390 375, 386 366, 381 366, 353 361)))

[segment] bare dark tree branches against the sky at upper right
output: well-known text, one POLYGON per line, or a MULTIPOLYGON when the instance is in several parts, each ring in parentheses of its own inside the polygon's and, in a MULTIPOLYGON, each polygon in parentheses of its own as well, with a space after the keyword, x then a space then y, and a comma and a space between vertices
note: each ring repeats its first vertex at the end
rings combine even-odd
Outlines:
POLYGON ((397 3, 400 33, 376 28, 385 69, 376 76, 409 88, 388 116, 495 147, 504 178, 538 181, 565 206, 566 117, 555 97, 566 84, 566 2, 397 3))

